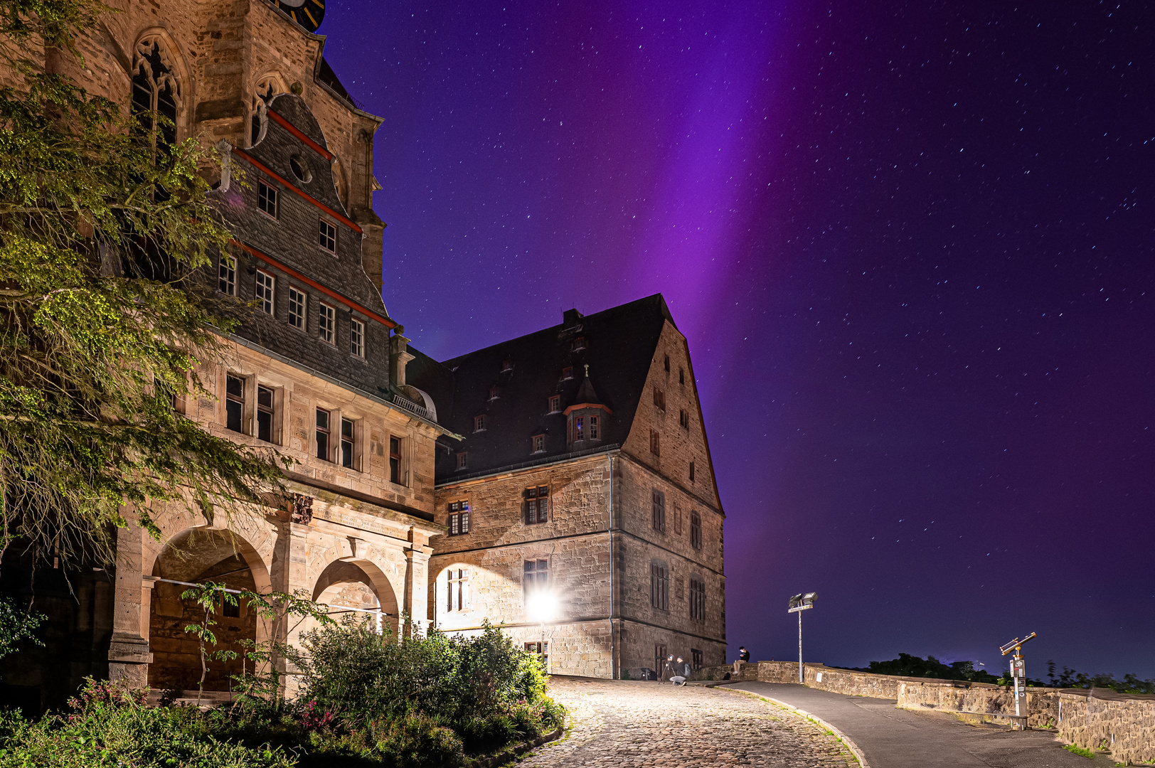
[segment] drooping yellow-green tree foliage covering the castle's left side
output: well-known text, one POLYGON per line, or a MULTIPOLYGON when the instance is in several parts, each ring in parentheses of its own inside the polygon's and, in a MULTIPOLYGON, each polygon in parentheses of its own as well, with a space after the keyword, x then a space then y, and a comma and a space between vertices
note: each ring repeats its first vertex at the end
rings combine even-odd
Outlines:
MULTIPOLYGON (((83 66, 92 0, 0 0, 0 550, 107 560, 121 509, 203 508, 280 487, 271 453, 174 412, 210 396, 199 371, 233 327, 201 274, 230 232, 195 137, 163 144, 159 114, 127 113, 45 70, 83 66), (49 67, 51 69, 51 67, 49 67)), ((167 124, 171 127, 171 122, 167 124)))

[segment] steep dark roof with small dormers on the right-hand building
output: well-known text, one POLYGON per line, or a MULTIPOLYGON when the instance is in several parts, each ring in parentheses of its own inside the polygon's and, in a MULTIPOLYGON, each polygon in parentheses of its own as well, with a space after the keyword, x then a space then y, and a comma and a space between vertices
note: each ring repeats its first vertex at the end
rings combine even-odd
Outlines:
POLYGON ((601 445, 625 442, 666 320, 673 322, 670 310, 662 294, 655 293, 584 316, 569 310, 560 325, 441 364, 410 348, 416 357, 405 368, 407 382, 429 393, 438 422, 465 438, 463 442, 441 439, 437 482, 546 462, 568 453, 561 411, 574 403, 599 402, 610 408, 601 445), (573 349, 579 337, 584 340, 583 350, 573 349), (504 371, 507 360, 512 367, 504 371), (567 367, 572 368, 568 379, 562 376, 567 367), (493 387, 497 397, 491 397, 493 387), (580 394, 596 400, 581 400, 580 394), (554 413, 549 412, 551 395, 561 398, 554 413), (485 417, 484 431, 474 431, 476 416, 485 417), (545 435, 544 454, 531 453, 537 434, 545 435), (469 465, 457 470, 456 454, 462 450, 469 454, 469 465))

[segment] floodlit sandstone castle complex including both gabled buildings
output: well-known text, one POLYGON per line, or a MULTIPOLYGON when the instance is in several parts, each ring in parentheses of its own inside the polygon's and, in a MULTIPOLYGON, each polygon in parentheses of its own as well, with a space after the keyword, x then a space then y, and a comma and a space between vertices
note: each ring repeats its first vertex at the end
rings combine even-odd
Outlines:
MULTIPOLYGON (((194 687, 180 592, 207 580, 304 591, 394 629, 403 616, 462 632, 489 620, 524 643, 543 634, 527 598, 544 594, 553 672, 636 674, 665 651, 723 663, 723 514, 686 340, 662 297, 569 311, 444 363, 410 349, 381 300, 382 118, 326 62, 323 6, 110 5, 120 13, 81 42, 83 69, 40 60, 223 154, 213 195, 237 241, 209 277, 254 308, 225 359, 200 371, 215 397, 176 408, 292 457, 293 495, 228 519, 157 506, 161 540, 121 529, 106 571, 66 579, 7 556, 0 586, 50 621, 45 647, 0 661, 0 699, 38 708, 88 674, 194 687)), ((217 620, 233 649, 307 628, 244 605, 217 620)), ((207 687, 233 671, 217 664, 207 687)))

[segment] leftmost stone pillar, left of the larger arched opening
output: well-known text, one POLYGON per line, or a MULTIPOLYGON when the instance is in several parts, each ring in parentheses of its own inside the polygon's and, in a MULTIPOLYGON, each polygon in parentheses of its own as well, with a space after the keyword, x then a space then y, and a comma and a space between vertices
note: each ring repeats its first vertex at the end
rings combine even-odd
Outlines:
POLYGON ((148 687, 152 663, 148 639, 150 603, 144 603, 141 573, 144 531, 136 523, 117 530, 117 581, 112 604, 112 639, 109 643, 109 679, 134 688, 148 687))

